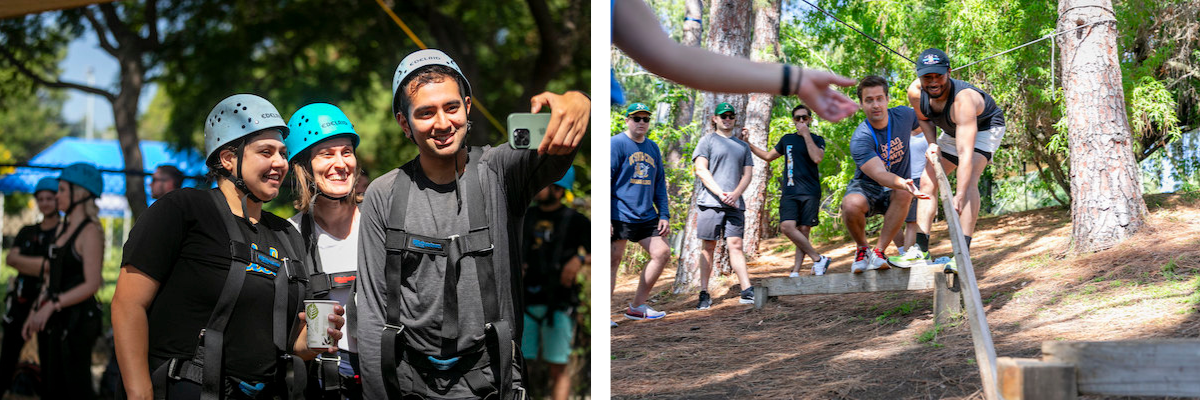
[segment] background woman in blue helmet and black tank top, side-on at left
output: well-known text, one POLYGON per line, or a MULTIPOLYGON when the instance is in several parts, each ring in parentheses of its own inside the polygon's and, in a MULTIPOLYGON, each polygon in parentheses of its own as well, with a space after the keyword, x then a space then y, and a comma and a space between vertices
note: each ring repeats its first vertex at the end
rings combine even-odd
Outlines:
POLYGON ((91 347, 100 336, 96 302, 104 235, 96 198, 103 191, 100 171, 90 163, 62 169, 56 193, 65 219, 47 251, 49 268, 42 295, 25 321, 26 340, 37 335, 42 399, 91 399, 91 347))

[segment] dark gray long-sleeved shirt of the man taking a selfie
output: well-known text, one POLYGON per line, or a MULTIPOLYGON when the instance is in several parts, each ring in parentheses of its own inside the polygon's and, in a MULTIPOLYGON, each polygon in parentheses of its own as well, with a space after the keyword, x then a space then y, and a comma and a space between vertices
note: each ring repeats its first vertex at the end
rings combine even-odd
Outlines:
MULTIPOLYGON (((521 341, 521 323, 523 320, 516 311, 520 306, 521 261, 518 238, 521 221, 526 207, 533 195, 554 180, 563 177, 570 167, 571 155, 538 156, 536 151, 515 150, 506 145, 486 149, 478 163, 479 178, 484 183, 485 204, 488 210, 493 250, 492 265, 499 282, 511 282, 510 286, 497 285, 502 299, 480 299, 479 281, 475 274, 474 257, 464 257, 458 273, 458 322, 460 336, 457 348, 466 350, 484 341, 484 303, 500 302, 514 308, 500 308, 502 318, 510 321, 514 340, 521 341)), ((406 268, 401 293, 403 304, 386 304, 388 291, 384 247, 385 227, 391 214, 391 185, 398 171, 392 169, 371 183, 361 205, 361 228, 359 231, 359 280, 355 286, 356 327, 352 334, 358 336, 360 364, 362 368, 364 396, 384 399, 386 392, 383 383, 382 356, 378 352, 383 333, 386 309, 398 306, 401 322, 404 324, 404 346, 438 356, 442 344, 442 283, 445 276, 444 257, 422 256, 415 269, 406 268)), ((466 181, 460 180, 460 185, 466 181)), ((468 193, 463 189, 463 196, 468 193)), ((475 195, 480 196, 480 195, 475 195)), ((449 237, 464 234, 468 229, 467 203, 460 210, 455 196, 455 185, 437 185, 418 172, 408 192, 408 208, 404 213, 404 228, 410 233, 430 237, 449 237)), ((398 363, 398 362, 397 362, 398 363)), ((401 369, 408 368, 402 365, 401 369)), ((491 380, 491 369, 485 369, 491 380)), ((401 372, 401 376, 404 376, 401 372)), ((515 376, 514 380, 520 380, 515 376)), ((473 396, 464 380, 455 382, 437 381, 436 386, 449 386, 450 398, 473 396)))

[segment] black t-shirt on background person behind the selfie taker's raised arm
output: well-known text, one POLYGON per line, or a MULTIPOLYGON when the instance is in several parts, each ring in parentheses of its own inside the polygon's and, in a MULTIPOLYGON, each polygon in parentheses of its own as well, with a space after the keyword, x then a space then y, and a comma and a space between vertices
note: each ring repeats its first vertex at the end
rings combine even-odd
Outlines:
POLYGON ((530 207, 526 211, 522 240, 523 259, 528 264, 524 273, 526 304, 572 304, 569 298, 559 298, 574 293, 562 289, 563 264, 580 255, 580 247, 590 251, 592 222, 583 214, 571 213, 570 220, 563 227, 566 207, 553 211, 542 211, 530 207), (564 232, 558 232, 563 229, 564 232), (556 245, 562 244, 558 259, 554 256, 556 245))

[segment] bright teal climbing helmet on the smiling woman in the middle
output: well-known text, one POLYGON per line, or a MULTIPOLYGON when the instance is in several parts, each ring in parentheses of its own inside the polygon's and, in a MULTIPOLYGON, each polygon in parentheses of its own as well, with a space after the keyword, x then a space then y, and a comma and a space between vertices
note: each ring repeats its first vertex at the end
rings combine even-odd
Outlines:
POLYGON ((341 108, 330 103, 312 103, 300 107, 288 120, 288 137, 283 144, 288 147, 288 162, 313 144, 335 137, 349 137, 352 145, 359 147, 359 133, 354 124, 341 108))

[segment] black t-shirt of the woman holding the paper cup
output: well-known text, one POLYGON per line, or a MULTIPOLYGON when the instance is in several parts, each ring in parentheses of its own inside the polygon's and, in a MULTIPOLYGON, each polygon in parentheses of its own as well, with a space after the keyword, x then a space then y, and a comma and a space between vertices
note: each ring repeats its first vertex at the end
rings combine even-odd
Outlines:
MULTIPOLYGON (((130 231, 121 264, 137 268, 161 285, 148 310, 151 360, 192 358, 196 352, 200 329, 212 315, 232 261, 229 233, 221 213, 229 211, 224 207, 218 209, 208 191, 180 189, 155 202, 130 231)), ((256 226, 240 217, 234 220, 252 247, 277 255, 278 259, 304 259, 299 235, 286 220, 266 211, 256 226), (290 240, 290 245, 283 245, 281 237, 290 240), (289 255, 289 249, 301 253, 289 255)), ((278 276, 287 279, 282 270, 278 276)), ((228 375, 269 381, 275 372, 274 279, 247 268, 246 281, 224 332, 228 375)), ((295 285, 289 288, 293 293, 288 295, 288 321, 295 322, 299 320, 290 310, 299 310, 304 293, 295 285)), ((290 351, 290 344, 287 346, 290 351)), ((150 369, 155 368, 157 365, 151 362, 150 369)))

